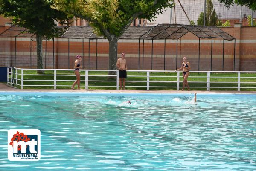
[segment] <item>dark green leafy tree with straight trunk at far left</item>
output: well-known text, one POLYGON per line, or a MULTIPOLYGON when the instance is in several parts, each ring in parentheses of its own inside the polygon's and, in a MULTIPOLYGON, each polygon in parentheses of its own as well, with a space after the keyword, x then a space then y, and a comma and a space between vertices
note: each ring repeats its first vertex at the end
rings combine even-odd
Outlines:
MULTIPOLYGON (((53 0, 0 0, 0 14, 12 17, 12 24, 17 24, 36 34, 37 67, 43 68, 43 37, 48 40, 57 37, 63 31, 58 29, 54 20, 66 23, 67 14, 52 8, 53 0)), ((38 73, 44 73, 38 70, 38 73)))

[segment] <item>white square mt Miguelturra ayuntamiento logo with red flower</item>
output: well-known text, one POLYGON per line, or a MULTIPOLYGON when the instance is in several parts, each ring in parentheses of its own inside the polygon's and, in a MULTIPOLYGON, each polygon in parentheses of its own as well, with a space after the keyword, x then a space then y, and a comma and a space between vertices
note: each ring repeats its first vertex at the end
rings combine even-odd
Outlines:
POLYGON ((40 157, 40 130, 8 130, 8 159, 10 161, 38 161, 40 157))

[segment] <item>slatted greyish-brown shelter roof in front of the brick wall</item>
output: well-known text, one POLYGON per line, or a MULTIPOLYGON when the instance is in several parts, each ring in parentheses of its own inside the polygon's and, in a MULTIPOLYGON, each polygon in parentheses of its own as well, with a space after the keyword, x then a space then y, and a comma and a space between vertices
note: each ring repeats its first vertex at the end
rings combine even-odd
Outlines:
MULTIPOLYGON (((86 38, 105 39, 93 33, 90 26, 58 26, 65 29, 61 38, 86 38)), ((131 26, 124 32, 120 39, 179 39, 186 33, 191 32, 198 38, 224 38, 225 40, 235 39, 216 26, 192 26, 181 24, 158 24, 157 26, 131 26)), ((11 26, 0 34, 8 37, 33 37, 34 34, 27 29, 18 26, 11 26)))

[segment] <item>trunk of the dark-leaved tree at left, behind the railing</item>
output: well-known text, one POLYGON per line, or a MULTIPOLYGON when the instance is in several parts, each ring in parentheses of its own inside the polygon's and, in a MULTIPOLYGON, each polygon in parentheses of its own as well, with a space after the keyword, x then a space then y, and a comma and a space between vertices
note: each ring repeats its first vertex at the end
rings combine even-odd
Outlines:
MULTIPOLYGON (((43 37, 36 34, 37 68, 43 69, 43 37)), ((38 70, 38 74, 44 74, 44 70, 38 70)))

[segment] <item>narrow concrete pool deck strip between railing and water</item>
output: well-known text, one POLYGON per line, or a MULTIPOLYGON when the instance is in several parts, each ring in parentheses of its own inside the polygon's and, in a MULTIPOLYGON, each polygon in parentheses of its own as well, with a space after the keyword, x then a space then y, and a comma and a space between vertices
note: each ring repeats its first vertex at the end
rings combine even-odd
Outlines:
POLYGON ((89 90, 72 90, 72 89, 17 89, 9 87, 4 83, 0 83, 0 91, 14 92, 92 92, 92 93, 234 93, 234 94, 256 94, 256 91, 203 91, 203 90, 104 90, 104 89, 89 89, 89 90))

